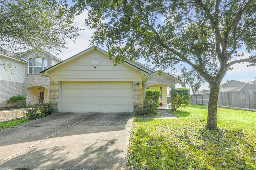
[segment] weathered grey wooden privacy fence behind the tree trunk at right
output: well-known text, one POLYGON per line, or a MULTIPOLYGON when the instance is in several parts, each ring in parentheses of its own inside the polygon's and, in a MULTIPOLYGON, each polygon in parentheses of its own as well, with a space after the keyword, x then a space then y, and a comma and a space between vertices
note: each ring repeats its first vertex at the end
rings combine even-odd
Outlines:
MULTIPOLYGON (((208 102, 209 93, 195 94, 190 97, 191 104, 208 105, 208 102)), ((256 109, 256 90, 219 92, 218 106, 256 109)))

